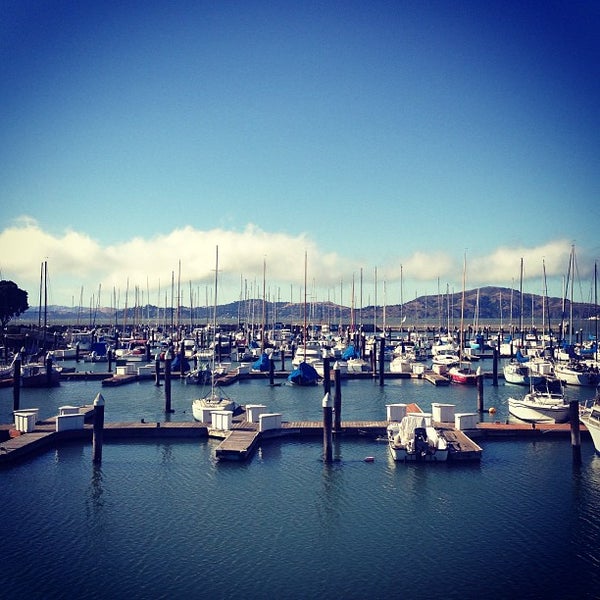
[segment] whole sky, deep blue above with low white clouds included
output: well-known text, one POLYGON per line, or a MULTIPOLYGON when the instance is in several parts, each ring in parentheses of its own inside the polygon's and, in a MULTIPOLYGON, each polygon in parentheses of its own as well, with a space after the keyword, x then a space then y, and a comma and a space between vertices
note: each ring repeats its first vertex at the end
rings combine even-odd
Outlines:
POLYGON ((458 291, 465 255, 468 288, 523 257, 560 296, 575 244, 589 300, 598 32, 587 1, 5 1, 0 275, 198 304, 218 245, 223 302, 264 264, 299 301, 305 252, 346 305, 361 273, 365 305, 458 291))

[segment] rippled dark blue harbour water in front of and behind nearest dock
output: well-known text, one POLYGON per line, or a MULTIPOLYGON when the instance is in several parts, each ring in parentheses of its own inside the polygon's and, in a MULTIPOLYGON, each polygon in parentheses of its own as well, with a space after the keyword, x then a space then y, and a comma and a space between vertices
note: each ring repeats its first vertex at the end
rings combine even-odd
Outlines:
MULTIPOLYGON (((89 368, 89 366, 86 366, 89 368)), ((344 382, 343 418, 384 419, 390 402, 456 404, 476 390, 427 382, 344 382)), ((322 389, 236 384, 242 403, 320 419, 322 389)), ((520 388, 486 382, 486 406, 520 388)), ((569 390, 585 399, 590 390, 569 390)), ((108 421, 165 420, 152 382, 22 390, 42 417, 101 392, 108 421)), ((173 420, 195 386, 173 384, 173 420)), ((12 391, 0 390, 2 422, 12 391)), ((489 417, 488 417, 489 418, 489 417)), ((29 598, 599 598, 600 457, 583 440, 494 441, 479 465, 403 465, 385 444, 273 440, 245 464, 218 442, 73 444, 0 471, 3 595, 29 598), (375 462, 365 463, 365 456, 375 462)))

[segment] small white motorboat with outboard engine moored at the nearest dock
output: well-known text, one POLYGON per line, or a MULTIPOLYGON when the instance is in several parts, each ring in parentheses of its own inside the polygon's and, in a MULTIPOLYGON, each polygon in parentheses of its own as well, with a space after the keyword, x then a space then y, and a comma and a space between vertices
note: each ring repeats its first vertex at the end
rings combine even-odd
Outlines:
POLYGON ((431 413, 408 413, 387 427, 390 454, 399 462, 443 462, 448 442, 432 425, 431 413))

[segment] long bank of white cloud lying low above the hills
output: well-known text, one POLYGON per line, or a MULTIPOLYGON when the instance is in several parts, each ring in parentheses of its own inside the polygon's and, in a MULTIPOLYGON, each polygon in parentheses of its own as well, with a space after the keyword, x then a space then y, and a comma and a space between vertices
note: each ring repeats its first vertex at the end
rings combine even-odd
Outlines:
MULTIPOLYGON (((407 256, 398 255, 387 264, 361 263, 360 257, 342 256, 324 252, 319 244, 306 234, 290 236, 281 232, 267 232, 249 224, 242 231, 225 229, 199 230, 190 226, 175 229, 163 235, 144 237, 138 234, 123 243, 103 247, 86 233, 72 230, 60 234, 44 231, 30 217, 22 217, 0 232, 0 264, 2 278, 11 279, 29 292, 30 304, 36 305, 40 281, 40 265, 48 261, 50 274, 50 302, 79 304, 97 301, 101 287, 103 305, 112 303, 117 291, 119 304, 124 304, 125 290, 129 287, 129 304, 138 299, 161 302, 171 292, 171 283, 177 284, 181 264, 182 302, 189 303, 190 284, 195 302, 212 294, 214 285, 215 249, 219 247, 219 301, 230 302, 239 298, 240 280, 252 295, 262 295, 263 263, 269 296, 299 301, 299 290, 304 283, 304 255, 307 255, 308 289, 315 290, 318 299, 337 298, 343 282, 343 301, 350 304, 350 285, 355 280, 358 298, 358 275, 363 269, 364 298, 373 298, 374 269, 378 272, 379 303, 383 300, 382 286, 390 286, 390 303, 399 301, 400 272, 405 282, 405 301, 413 291, 431 294, 442 291, 446 284, 453 289, 462 285, 463 257, 444 253, 416 251, 407 256), (438 283, 439 282, 439 283, 438 283), (293 292, 290 288, 293 287, 293 292), (206 290, 206 292, 205 292, 206 290), (279 290, 279 292, 277 292, 279 290), (318 291, 317 291, 318 290, 318 291)), ((354 249, 350 247, 350 252, 354 249)), ((483 285, 511 286, 519 280, 519 265, 524 259, 525 277, 540 282, 542 260, 548 278, 560 279, 566 275, 571 243, 566 240, 550 241, 542 246, 499 247, 487 255, 467 253, 467 287, 483 285)), ((579 273, 589 274, 593 262, 584 259, 579 273)), ((536 284, 540 288, 539 284, 536 284)), ((541 289, 541 288, 540 288, 541 289)), ((560 289, 560 288, 559 288, 560 289)), ((533 291, 533 290, 532 290, 533 291)), ((170 296, 169 296, 170 297, 170 296)), ((212 297, 212 296, 211 296, 212 297)))

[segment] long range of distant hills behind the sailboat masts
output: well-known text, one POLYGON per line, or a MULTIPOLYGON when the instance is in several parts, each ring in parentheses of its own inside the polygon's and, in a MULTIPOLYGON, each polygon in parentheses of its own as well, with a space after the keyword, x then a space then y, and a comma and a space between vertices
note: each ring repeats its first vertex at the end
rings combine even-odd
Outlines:
MULTIPOLYGON (((397 325, 404 320, 405 326, 416 326, 419 324, 446 326, 448 322, 457 326, 461 318, 462 291, 453 294, 440 294, 420 296, 404 303, 385 307, 386 323, 397 325)), ((464 322, 465 325, 472 324, 476 320, 503 322, 519 324, 521 319, 521 306, 523 307, 523 322, 528 326, 532 321, 539 327, 542 320, 551 326, 557 325, 563 318, 568 319, 571 312, 569 301, 563 308, 562 298, 546 298, 535 294, 521 295, 518 290, 506 287, 488 286, 465 292, 464 322)), ((383 322, 384 307, 377 307, 377 323, 381 327, 383 322)), ((304 305, 301 303, 266 302, 266 320, 269 323, 282 322, 285 324, 301 324, 304 319, 304 305)), ((307 307, 307 319, 310 323, 332 323, 344 324, 351 322, 351 309, 347 306, 339 306, 331 302, 312 303, 307 307)), ((598 308, 589 303, 573 303, 574 321, 584 321, 597 318, 598 308)), ((21 315, 17 323, 37 324, 40 311, 38 307, 31 307, 25 314, 21 315)), ((69 324, 86 327, 89 325, 111 325, 117 323, 123 326, 128 323, 165 323, 181 322, 188 324, 190 317, 196 325, 212 322, 213 308, 199 307, 190 311, 189 307, 176 309, 158 308, 153 305, 129 308, 127 315, 120 309, 115 314, 111 308, 98 308, 91 311, 89 308, 68 308, 65 306, 50 306, 47 311, 47 322, 49 325, 69 324), (177 315, 179 312, 179 315, 177 315), (192 314, 193 312, 193 314, 192 314)), ((220 305, 217 310, 219 323, 260 323, 263 318, 263 302, 260 299, 232 302, 220 305)), ((375 307, 355 307, 354 322, 372 324, 375 320, 375 307)))

